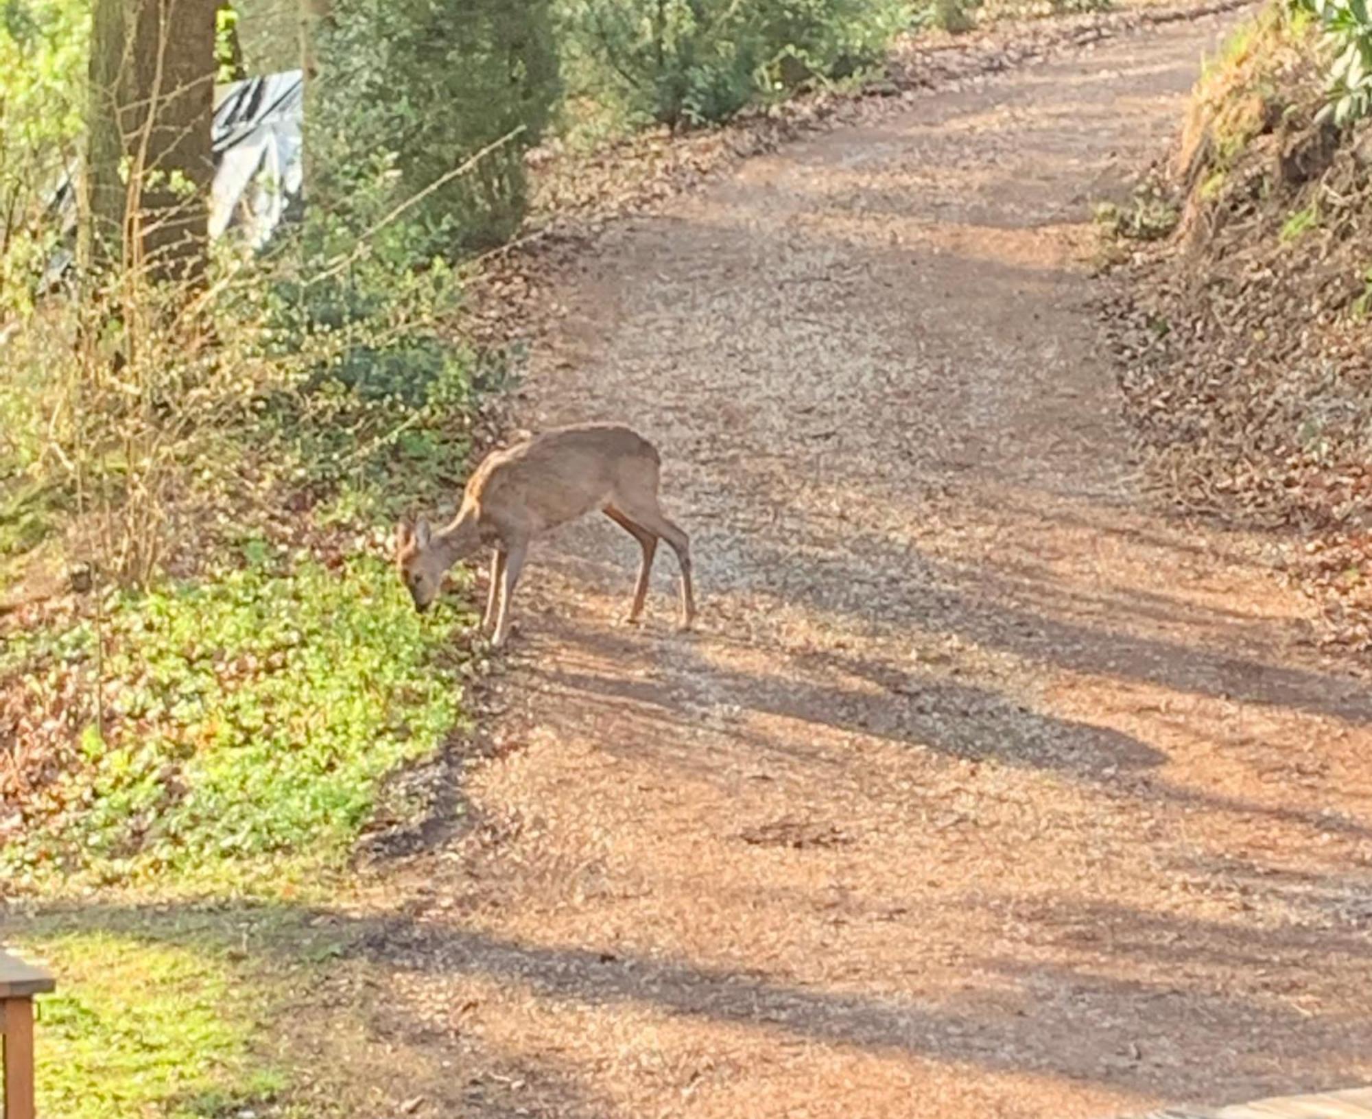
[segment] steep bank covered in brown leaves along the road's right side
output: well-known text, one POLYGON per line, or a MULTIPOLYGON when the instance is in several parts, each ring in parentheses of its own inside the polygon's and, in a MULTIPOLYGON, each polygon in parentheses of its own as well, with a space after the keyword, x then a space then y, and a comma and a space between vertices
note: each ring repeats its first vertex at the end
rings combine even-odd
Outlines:
POLYGON ((1369 91, 1361 3, 1273 4, 1239 27, 1140 188, 1129 221, 1168 240, 1135 254, 1118 324, 1161 490, 1295 529, 1288 566, 1323 609, 1321 640, 1358 653, 1372 650, 1369 91))

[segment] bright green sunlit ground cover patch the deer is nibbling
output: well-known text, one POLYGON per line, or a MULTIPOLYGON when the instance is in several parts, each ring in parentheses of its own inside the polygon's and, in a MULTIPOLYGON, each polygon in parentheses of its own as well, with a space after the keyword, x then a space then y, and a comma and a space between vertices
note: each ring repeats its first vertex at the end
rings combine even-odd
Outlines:
POLYGON ((11 642, 0 679, 41 693, 73 673, 104 697, 81 760, 45 790, 11 875, 99 882, 284 882, 336 867, 377 783, 436 749, 460 719, 462 617, 414 613, 394 573, 357 558, 333 570, 244 565, 107 603, 103 658, 84 621, 11 642))

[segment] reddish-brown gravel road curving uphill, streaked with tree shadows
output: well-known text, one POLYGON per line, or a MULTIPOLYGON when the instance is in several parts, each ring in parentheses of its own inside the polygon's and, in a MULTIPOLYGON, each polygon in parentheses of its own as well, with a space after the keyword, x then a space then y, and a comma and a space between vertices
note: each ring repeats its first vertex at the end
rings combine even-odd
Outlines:
POLYGON ((462 824, 395 869, 420 1115, 1092 1116, 1372 1076, 1372 698, 1137 492, 1091 200, 1220 23, 932 92, 613 229, 524 422, 663 450, 700 632, 538 550, 462 824))

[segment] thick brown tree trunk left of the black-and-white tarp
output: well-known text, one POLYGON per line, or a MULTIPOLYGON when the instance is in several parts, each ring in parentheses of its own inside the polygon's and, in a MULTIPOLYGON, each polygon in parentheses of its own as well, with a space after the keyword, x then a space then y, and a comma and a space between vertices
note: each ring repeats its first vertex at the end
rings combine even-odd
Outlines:
POLYGON ((204 263, 220 0, 95 0, 86 261, 151 280, 204 263))

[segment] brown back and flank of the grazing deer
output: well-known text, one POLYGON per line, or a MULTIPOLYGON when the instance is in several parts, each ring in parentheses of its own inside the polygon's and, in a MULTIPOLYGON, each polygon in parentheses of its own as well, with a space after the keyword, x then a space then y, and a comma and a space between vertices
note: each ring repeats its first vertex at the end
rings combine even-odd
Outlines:
POLYGON ((611 503, 624 485, 657 490, 657 450, 620 424, 554 428, 493 451, 466 501, 497 528, 543 532, 611 503))

